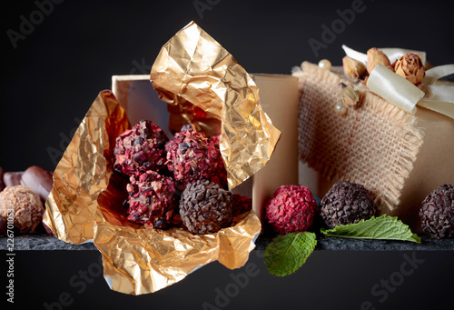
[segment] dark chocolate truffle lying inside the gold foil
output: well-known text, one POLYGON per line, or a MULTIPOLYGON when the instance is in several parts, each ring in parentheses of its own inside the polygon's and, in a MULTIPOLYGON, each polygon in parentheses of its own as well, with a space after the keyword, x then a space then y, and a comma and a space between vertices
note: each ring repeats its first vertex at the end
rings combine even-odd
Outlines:
POLYGON ((232 193, 209 180, 197 180, 183 191, 180 215, 193 234, 216 233, 232 223, 232 193))

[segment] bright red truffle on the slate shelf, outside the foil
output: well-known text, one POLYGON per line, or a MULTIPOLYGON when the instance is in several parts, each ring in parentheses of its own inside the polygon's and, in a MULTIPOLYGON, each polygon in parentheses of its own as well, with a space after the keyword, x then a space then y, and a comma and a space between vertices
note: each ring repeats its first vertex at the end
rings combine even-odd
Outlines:
POLYGON ((281 185, 265 205, 265 218, 279 234, 307 231, 318 211, 306 186, 281 185))

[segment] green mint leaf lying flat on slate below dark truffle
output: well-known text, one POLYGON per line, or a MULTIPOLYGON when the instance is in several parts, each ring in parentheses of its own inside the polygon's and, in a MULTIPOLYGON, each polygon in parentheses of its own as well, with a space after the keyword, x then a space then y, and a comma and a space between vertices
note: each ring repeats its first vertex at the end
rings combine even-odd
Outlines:
POLYGON ((413 234, 408 225, 403 224, 397 217, 388 215, 372 216, 366 221, 360 220, 356 224, 339 225, 332 229, 321 228, 321 234, 343 238, 387 239, 421 243, 421 238, 413 234))

